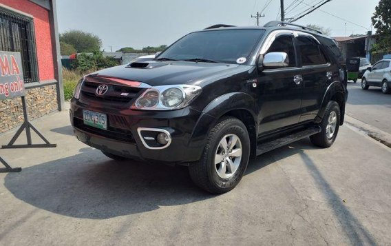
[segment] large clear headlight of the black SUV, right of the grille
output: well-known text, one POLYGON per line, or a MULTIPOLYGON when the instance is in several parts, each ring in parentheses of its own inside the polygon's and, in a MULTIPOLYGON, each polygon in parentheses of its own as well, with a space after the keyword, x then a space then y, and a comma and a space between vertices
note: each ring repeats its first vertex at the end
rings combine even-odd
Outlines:
POLYGON ((178 110, 202 91, 196 85, 162 85, 147 89, 131 106, 134 110, 178 110))

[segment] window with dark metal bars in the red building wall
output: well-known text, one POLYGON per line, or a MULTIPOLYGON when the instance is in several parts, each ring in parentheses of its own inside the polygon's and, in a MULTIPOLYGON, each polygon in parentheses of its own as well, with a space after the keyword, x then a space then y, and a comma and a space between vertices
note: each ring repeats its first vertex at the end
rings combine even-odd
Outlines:
POLYGON ((39 81, 31 18, 0 8, 0 50, 20 52, 25 83, 39 81))

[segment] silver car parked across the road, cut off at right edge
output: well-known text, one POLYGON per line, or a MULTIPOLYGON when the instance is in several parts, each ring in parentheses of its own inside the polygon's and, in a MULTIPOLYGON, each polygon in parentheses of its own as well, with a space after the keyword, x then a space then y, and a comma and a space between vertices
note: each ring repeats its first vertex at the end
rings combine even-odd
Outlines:
POLYGON ((370 86, 381 87, 381 92, 388 94, 391 91, 391 67, 390 59, 383 59, 374 63, 363 74, 361 79, 361 88, 368 90, 370 86))

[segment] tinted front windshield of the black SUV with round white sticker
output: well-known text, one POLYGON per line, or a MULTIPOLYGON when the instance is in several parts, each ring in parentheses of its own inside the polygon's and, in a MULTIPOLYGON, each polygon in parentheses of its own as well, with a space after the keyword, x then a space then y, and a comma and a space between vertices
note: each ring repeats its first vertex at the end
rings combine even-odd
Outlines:
POLYGON ((264 32, 256 29, 193 32, 171 45, 157 60, 242 64, 264 32))

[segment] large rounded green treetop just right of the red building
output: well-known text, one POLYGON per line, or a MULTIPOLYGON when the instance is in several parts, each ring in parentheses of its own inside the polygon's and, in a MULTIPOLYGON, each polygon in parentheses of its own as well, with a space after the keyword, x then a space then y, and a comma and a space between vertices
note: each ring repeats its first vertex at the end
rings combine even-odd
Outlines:
POLYGON ((60 34, 60 41, 72 45, 78 53, 95 52, 102 46, 98 36, 81 30, 70 30, 60 34))

